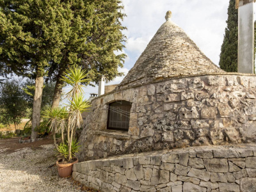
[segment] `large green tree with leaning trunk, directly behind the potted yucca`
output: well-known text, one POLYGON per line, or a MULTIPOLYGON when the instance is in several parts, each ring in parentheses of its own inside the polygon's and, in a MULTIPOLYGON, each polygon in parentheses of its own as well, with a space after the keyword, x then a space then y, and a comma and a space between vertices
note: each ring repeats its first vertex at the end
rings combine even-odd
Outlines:
POLYGON ((60 101, 63 81, 61 76, 66 68, 79 65, 87 72, 91 82, 97 83, 101 76, 111 81, 122 76, 118 67, 123 67, 125 54, 122 53, 125 29, 121 21, 125 14, 119 0, 76 0, 63 1, 68 10, 69 38, 61 50, 60 63, 51 65, 49 79, 56 81, 52 107, 60 101), (117 53, 117 52, 121 53, 117 53))

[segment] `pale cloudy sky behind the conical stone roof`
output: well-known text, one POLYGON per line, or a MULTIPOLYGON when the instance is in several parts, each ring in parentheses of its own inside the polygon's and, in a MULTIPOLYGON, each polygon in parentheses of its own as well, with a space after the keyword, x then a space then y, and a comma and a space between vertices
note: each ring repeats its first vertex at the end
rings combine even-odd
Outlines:
MULTIPOLYGON (((184 29, 201 51, 218 65, 227 26, 228 3, 229 0, 123 0, 127 14, 123 22, 123 26, 127 27, 124 31, 127 58, 124 68, 119 70, 127 74, 133 67, 157 29, 165 22, 168 10, 172 11, 173 22, 184 29)), ((120 83, 123 78, 117 77, 108 84, 120 83)), ((84 97, 88 99, 89 93, 98 92, 98 87, 88 86, 84 92, 84 97)))

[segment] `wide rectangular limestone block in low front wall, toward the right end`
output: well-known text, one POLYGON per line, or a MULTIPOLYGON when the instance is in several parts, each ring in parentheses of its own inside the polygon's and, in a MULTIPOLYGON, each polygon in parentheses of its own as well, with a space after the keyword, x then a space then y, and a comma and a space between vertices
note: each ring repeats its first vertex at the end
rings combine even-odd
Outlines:
POLYGON ((204 159, 204 166, 208 172, 228 172, 228 161, 227 159, 204 159))

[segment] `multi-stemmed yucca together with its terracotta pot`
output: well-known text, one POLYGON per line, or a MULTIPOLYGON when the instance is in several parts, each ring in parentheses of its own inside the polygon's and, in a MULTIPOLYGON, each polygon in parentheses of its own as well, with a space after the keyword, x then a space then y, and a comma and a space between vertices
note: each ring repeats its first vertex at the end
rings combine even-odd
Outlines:
POLYGON ((85 70, 74 67, 66 70, 65 77, 62 77, 65 83, 72 86, 72 89, 66 94, 69 100, 67 108, 58 109, 60 111, 57 118, 59 129, 56 129, 61 131, 62 142, 57 146, 61 159, 56 162, 56 166, 60 177, 71 175, 73 164, 78 162, 75 154, 79 150, 79 145, 74 139, 74 135, 76 135, 76 129, 80 128, 83 123, 81 113, 90 108, 89 102, 84 100, 82 95, 84 87, 82 83, 89 81, 89 79, 85 79, 86 76, 85 70), (64 141, 64 131, 67 131, 67 141, 64 141))

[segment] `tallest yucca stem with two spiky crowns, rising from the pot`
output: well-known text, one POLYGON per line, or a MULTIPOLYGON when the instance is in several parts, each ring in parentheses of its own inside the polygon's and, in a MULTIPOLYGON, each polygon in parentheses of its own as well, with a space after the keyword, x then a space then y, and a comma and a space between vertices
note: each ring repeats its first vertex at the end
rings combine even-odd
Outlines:
POLYGON ((68 145, 68 161, 72 160, 72 140, 73 135, 76 132, 76 128, 81 127, 83 118, 81 113, 87 111, 90 108, 90 104, 83 100, 83 84, 90 81, 90 79, 85 79, 86 76, 85 70, 82 70, 81 67, 70 68, 65 72, 65 77, 62 77, 62 80, 72 86, 72 90, 68 92, 67 98, 69 100, 68 104, 68 125, 67 125, 67 145, 68 145))

